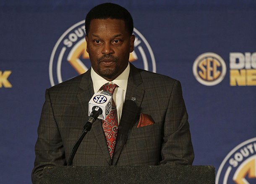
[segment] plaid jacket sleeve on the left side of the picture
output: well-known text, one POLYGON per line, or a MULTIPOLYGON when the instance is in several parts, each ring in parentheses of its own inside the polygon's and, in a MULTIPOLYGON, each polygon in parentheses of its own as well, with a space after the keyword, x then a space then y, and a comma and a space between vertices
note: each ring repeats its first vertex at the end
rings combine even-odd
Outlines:
POLYGON ((33 184, 39 184, 44 167, 66 165, 63 142, 55 121, 48 89, 45 92, 45 102, 39 121, 35 153, 36 158, 31 175, 33 184))

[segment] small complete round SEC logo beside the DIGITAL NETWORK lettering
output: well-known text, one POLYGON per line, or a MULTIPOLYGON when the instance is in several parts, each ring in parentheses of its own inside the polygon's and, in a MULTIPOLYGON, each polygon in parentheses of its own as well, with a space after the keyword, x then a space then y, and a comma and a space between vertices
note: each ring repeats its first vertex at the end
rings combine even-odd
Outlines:
POLYGON ((214 86, 222 82, 226 71, 225 61, 212 52, 201 54, 193 64, 193 74, 196 80, 206 86, 214 86))

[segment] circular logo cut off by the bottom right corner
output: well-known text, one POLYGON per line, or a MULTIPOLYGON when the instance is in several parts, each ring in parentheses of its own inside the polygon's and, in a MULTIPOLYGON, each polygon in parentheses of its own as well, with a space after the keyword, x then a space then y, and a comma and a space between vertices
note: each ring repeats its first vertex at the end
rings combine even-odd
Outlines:
POLYGON ((236 146, 222 161, 216 184, 256 183, 256 137, 236 146))

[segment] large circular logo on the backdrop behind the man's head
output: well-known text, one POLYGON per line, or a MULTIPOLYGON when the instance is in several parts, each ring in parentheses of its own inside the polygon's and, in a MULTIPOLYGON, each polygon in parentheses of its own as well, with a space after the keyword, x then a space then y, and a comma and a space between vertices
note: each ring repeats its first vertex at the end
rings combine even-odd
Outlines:
MULTIPOLYGON (((129 61, 138 68, 156 72, 153 51, 144 36, 134 28, 134 51, 129 61)), ((49 77, 52 86, 67 79, 83 74, 91 67, 86 52, 84 20, 66 30, 56 42, 49 64, 49 77)))

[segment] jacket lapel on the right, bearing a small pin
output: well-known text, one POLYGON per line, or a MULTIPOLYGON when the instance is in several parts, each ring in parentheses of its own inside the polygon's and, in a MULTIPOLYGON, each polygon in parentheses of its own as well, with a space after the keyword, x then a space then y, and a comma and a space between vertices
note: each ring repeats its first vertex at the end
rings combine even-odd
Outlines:
POLYGON ((139 114, 141 112, 141 102, 145 92, 144 89, 138 87, 142 83, 141 75, 132 64, 130 64, 130 66, 131 69, 128 78, 125 102, 123 104, 122 117, 118 127, 118 136, 112 165, 116 165, 118 163, 120 153, 127 141, 128 134, 139 118, 139 114))

